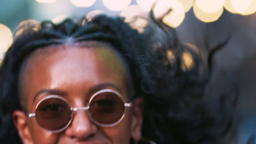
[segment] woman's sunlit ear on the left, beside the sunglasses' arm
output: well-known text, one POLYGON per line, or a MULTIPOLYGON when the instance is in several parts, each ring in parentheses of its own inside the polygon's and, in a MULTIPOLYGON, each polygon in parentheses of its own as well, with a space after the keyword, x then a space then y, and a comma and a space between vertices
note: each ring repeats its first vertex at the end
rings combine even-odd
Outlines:
POLYGON ((13 122, 18 130, 22 143, 33 143, 31 133, 27 125, 27 116, 24 112, 16 110, 13 112, 13 122))

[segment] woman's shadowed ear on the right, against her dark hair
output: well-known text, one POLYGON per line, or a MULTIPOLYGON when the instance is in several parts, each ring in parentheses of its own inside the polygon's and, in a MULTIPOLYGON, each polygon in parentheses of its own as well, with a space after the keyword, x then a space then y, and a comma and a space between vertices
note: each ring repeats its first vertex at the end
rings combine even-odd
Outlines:
POLYGON ((132 103, 132 133, 131 136, 136 142, 142 139, 141 127, 143 122, 143 101, 136 98, 132 103))

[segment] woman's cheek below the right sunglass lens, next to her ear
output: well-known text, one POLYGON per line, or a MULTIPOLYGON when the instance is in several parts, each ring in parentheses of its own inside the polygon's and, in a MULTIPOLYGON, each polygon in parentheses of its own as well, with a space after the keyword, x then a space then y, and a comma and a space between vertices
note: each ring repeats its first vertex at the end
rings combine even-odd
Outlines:
POLYGON ((100 128, 113 144, 129 144, 131 138, 131 110, 126 110, 122 121, 114 127, 100 128))

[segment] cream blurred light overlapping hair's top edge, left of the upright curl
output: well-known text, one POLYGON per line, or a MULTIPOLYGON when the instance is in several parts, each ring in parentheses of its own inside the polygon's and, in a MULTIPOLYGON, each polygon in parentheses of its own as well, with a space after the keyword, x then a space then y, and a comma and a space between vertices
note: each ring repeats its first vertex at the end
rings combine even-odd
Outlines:
POLYGON ((139 5, 130 5, 120 14, 120 16, 125 17, 125 22, 140 33, 144 32, 144 28, 148 25, 148 20, 143 17, 144 15, 146 13, 139 5))

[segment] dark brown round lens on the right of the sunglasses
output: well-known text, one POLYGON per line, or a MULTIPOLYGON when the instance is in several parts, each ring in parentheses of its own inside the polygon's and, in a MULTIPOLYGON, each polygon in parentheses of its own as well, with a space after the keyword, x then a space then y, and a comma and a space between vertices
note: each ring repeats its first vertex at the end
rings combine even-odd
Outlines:
POLYGON ((101 124, 113 124, 123 117, 124 101, 117 94, 103 92, 97 94, 90 102, 91 117, 101 124))

